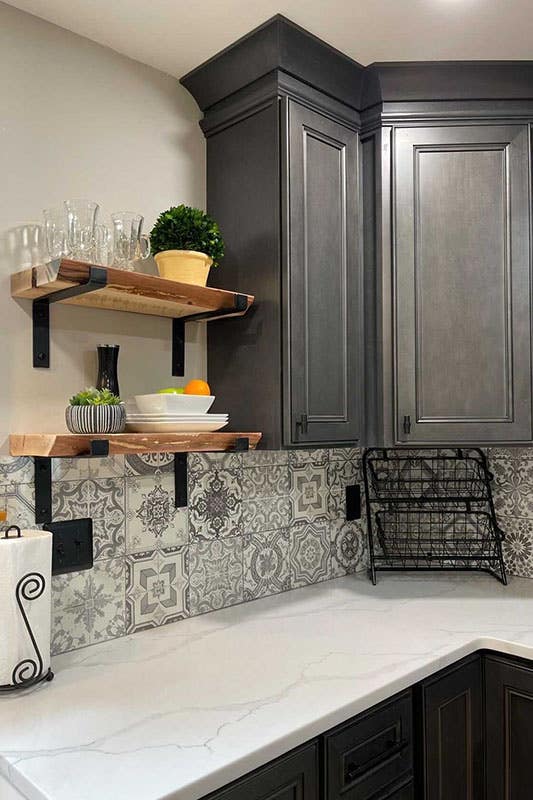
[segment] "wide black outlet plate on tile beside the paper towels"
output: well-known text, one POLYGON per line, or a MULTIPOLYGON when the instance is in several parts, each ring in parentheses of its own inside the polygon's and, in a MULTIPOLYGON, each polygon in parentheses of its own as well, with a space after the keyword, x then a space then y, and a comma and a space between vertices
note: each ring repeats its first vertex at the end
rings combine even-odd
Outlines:
POLYGON ((93 566, 93 521, 70 519, 43 525, 54 537, 52 575, 64 575, 91 569, 93 566))

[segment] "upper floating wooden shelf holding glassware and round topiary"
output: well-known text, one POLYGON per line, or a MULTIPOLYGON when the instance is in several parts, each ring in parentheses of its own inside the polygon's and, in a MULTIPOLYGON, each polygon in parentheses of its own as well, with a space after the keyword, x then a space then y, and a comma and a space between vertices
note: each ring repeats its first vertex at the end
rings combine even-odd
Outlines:
MULTIPOLYGON (((25 269, 11 276, 11 296, 27 300, 51 299, 56 292, 86 285, 95 266, 63 258, 25 269)), ((61 298, 57 302, 174 319, 209 313, 209 319, 216 319, 216 314, 210 312, 220 311, 221 316, 242 316, 254 301, 252 295, 244 295, 245 308, 233 310, 239 297, 237 292, 192 286, 113 267, 97 269, 105 273, 106 281, 102 288, 61 298)))

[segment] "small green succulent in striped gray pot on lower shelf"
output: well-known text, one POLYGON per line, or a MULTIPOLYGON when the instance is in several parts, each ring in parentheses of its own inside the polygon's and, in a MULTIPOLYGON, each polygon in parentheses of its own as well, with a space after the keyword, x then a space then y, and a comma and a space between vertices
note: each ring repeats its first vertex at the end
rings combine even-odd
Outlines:
POLYGON ((91 386, 70 398, 65 418, 71 433, 122 433, 126 410, 109 389, 91 386))

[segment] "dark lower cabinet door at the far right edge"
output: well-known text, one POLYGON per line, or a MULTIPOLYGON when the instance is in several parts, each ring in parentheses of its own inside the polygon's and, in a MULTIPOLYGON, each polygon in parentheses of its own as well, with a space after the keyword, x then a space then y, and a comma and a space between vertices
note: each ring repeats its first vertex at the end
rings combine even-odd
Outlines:
POLYGON ((487 800, 531 800, 533 670, 485 661, 487 800))

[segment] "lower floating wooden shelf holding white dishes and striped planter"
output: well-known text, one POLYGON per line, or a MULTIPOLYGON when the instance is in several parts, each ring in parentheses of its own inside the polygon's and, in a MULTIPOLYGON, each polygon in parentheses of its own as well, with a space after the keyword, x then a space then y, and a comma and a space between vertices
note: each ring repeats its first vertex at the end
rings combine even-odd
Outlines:
POLYGON ((251 450, 260 433, 12 433, 12 456, 41 458, 91 455, 91 444, 109 442, 109 455, 135 453, 193 453, 234 450, 239 439, 248 439, 251 450))

